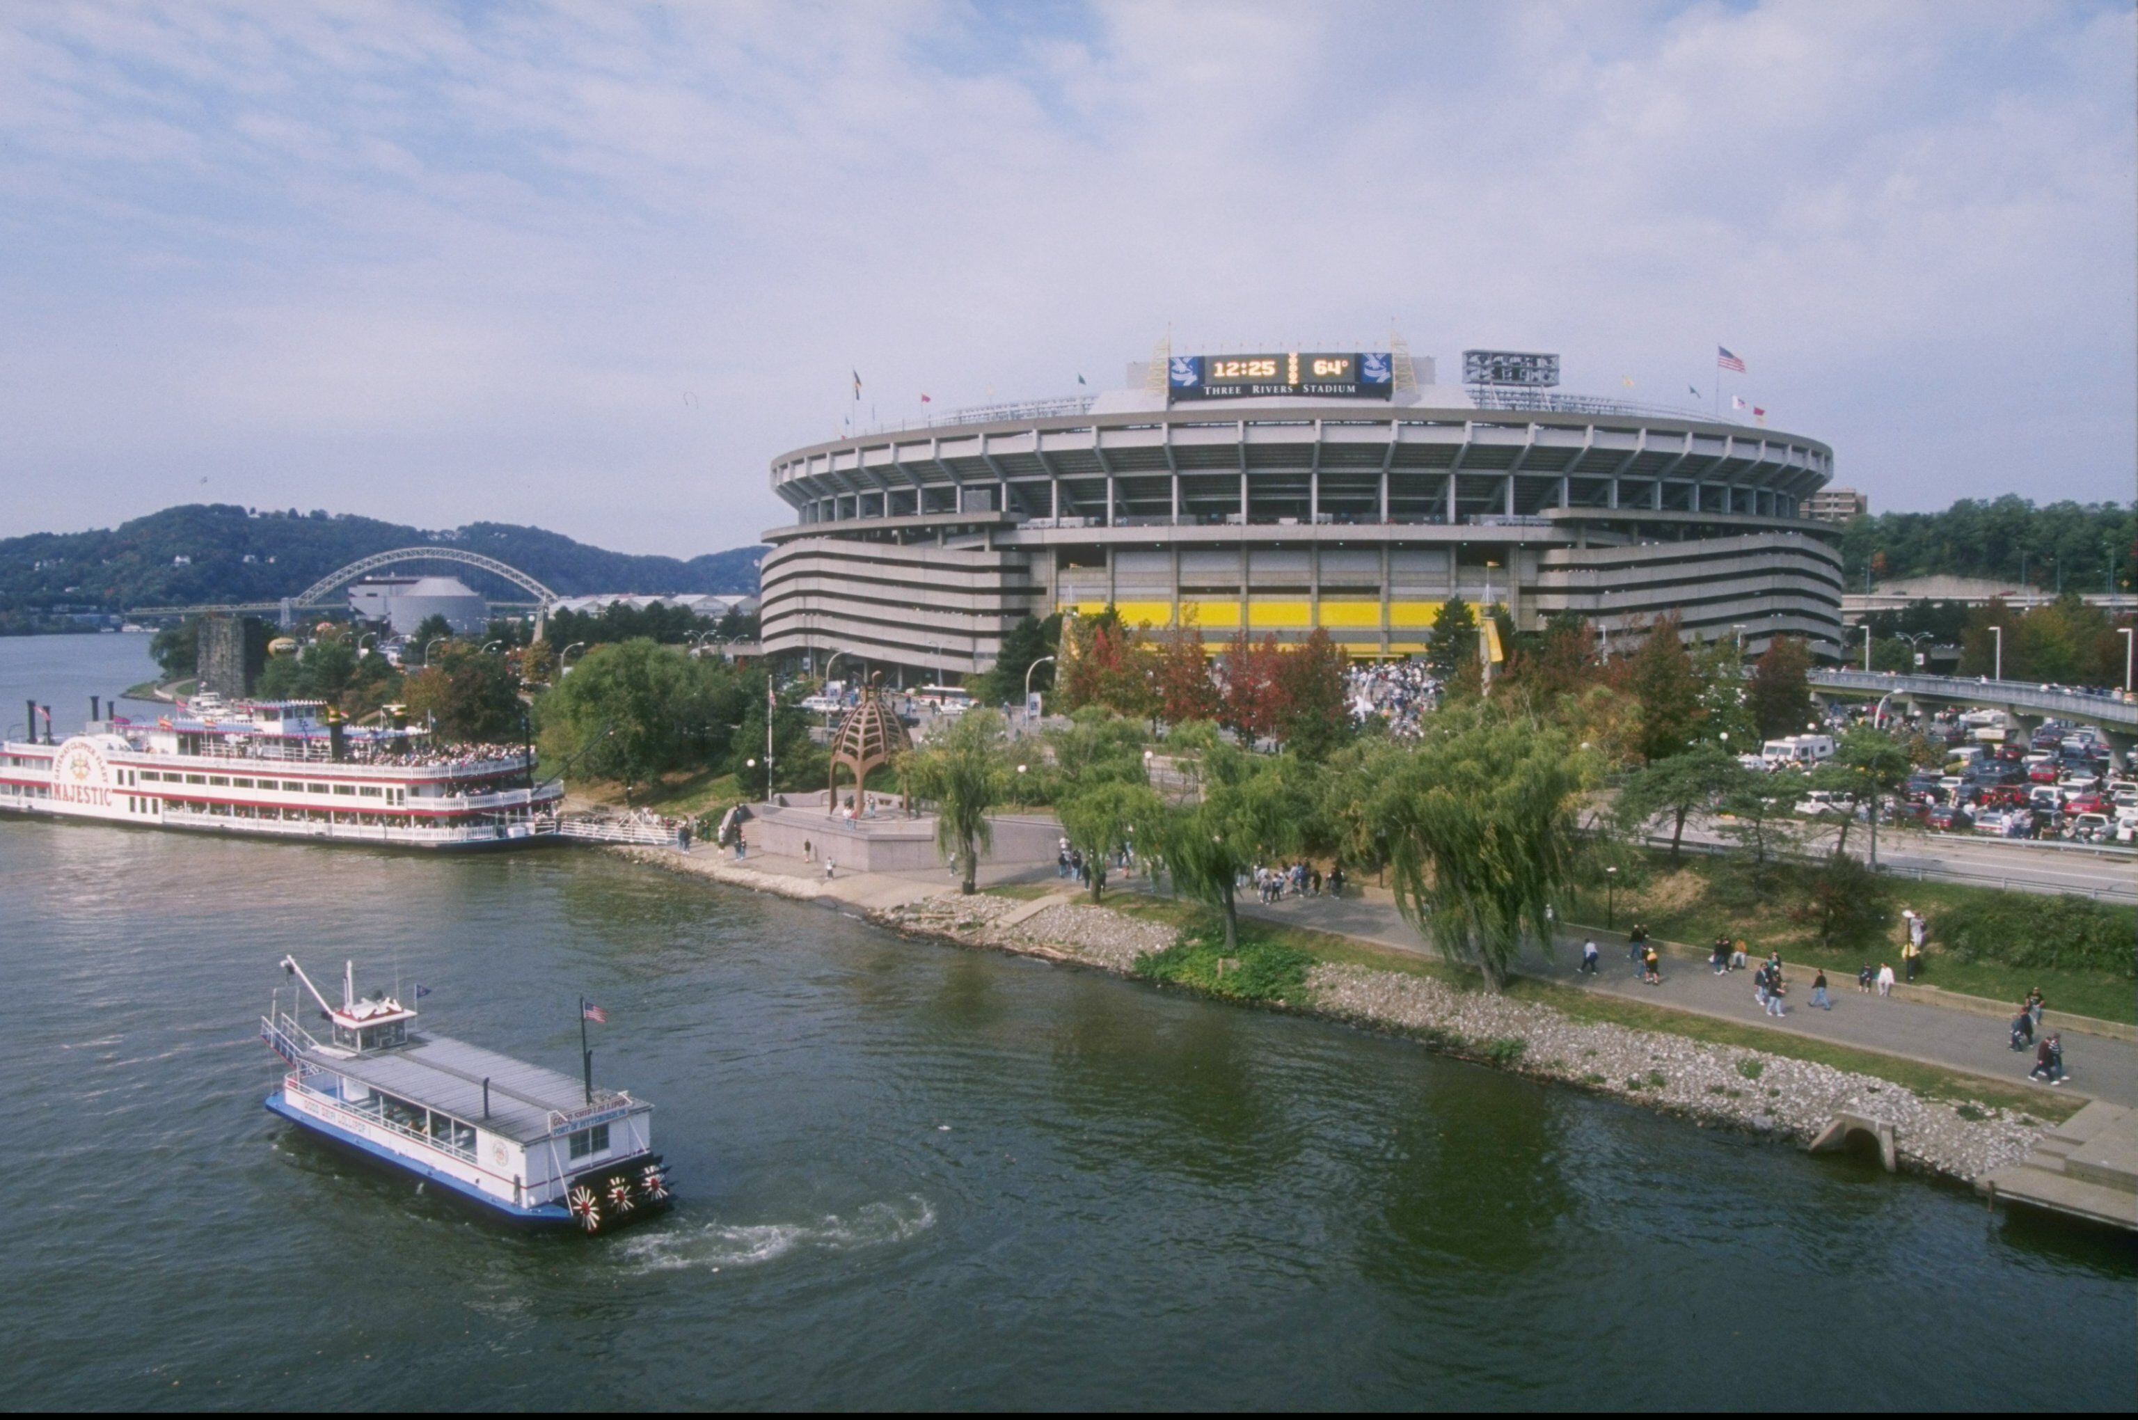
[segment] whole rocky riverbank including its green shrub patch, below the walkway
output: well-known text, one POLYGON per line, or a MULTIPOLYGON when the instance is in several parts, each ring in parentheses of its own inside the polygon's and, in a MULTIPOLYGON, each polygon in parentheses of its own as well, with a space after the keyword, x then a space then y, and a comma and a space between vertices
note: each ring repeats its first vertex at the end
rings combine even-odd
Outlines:
MULTIPOLYGON (((793 864, 718 853, 665 853, 618 849, 637 862, 710 877, 735 888, 800 900, 855 907, 870 922, 907 937, 1037 956, 1093 967, 1112 975, 1187 982, 1191 990, 1270 1009, 1385 1031, 1430 1050, 1516 1071, 1554 1084, 1610 1095, 1663 1110, 1702 1127, 1730 1127, 1809 1144, 1837 1114, 1860 1114, 1892 1125, 1901 1168, 1973 1183, 1980 1174, 2023 1159, 2048 1123, 2031 1110, 2052 1112, 2059 1101, 2031 1106, 2020 1095, 1948 1071, 1946 1089, 1907 1084, 1809 1061, 1738 1041, 1700 1039, 1668 1029, 1651 1031, 1595 1020, 1527 994, 1492 994, 1447 979, 1437 962, 1383 964, 1370 947, 1304 952, 1270 943, 1257 924, 1242 924, 1242 954, 1214 960, 1217 979, 1165 971, 1161 954, 1184 939, 1178 922, 1144 911, 1122 911, 1065 898, 1045 888, 1018 894, 960 896, 954 885, 904 877, 810 879, 793 864), (1276 952, 1283 986, 1274 992, 1240 990, 1225 982, 1253 979, 1257 952, 1276 952), (1943 1097, 1956 1093, 1958 1097, 1943 1097)), ((2055 1110, 2061 1116, 2061 1110, 2055 1110)))

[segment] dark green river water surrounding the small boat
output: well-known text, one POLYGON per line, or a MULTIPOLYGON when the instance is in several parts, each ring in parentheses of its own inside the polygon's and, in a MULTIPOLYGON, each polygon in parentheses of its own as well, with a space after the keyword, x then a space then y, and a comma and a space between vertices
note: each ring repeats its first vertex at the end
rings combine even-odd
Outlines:
MULTIPOLYGON (((62 729, 145 676, 145 637, 0 639, 0 706, 62 729)), ((594 849, 0 819, 0 905, 9 1407, 2138 1392, 2121 1240, 594 849), (282 952, 567 1071, 601 1003, 676 1210, 522 1236, 299 1138, 254 1039, 282 952)))

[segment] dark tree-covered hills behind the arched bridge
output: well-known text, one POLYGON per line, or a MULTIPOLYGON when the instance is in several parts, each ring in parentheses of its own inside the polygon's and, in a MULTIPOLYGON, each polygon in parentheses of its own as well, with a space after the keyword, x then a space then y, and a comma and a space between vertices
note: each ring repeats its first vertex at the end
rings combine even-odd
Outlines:
MULTIPOLYGON (((564 595, 755 592, 763 556, 763 547, 735 547, 684 562, 588 547, 560 532, 502 522, 432 532, 348 513, 195 503, 118 528, 0 541, 0 631, 34 629, 56 612, 274 601, 361 556, 419 543, 494 556, 564 595)), ((455 575, 494 597, 524 597, 475 569, 455 575)))

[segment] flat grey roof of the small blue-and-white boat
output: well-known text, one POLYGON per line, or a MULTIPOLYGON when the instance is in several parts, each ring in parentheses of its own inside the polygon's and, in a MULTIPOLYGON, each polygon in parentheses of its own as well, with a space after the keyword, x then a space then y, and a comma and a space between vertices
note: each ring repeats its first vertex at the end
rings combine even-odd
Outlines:
POLYGON ((304 1050, 301 1059, 306 1065, 451 1114, 520 1144, 569 1133, 579 1118, 601 1123, 603 1116, 616 1118, 652 1108, 620 1091, 594 1091, 594 1101, 588 1103, 584 1084, 562 1071, 528 1065, 509 1054, 443 1035, 410 1035, 406 1046, 378 1054, 348 1056, 314 1048, 304 1050), (487 1118, 483 1116, 485 1078, 490 1080, 487 1118))

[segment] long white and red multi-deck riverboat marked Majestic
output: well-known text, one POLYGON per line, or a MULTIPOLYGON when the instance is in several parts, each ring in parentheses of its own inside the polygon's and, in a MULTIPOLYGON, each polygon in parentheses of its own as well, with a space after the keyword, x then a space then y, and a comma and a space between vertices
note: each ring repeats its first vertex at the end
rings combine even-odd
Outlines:
MULTIPOLYGON (((49 725, 49 714, 47 714, 49 725)), ((32 721, 34 727, 34 721, 32 721)), ((342 725, 323 701, 92 721, 0 744, 0 811, 329 843, 494 847, 558 832, 562 785, 526 746, 440 746, 421 727, 342 725)))

